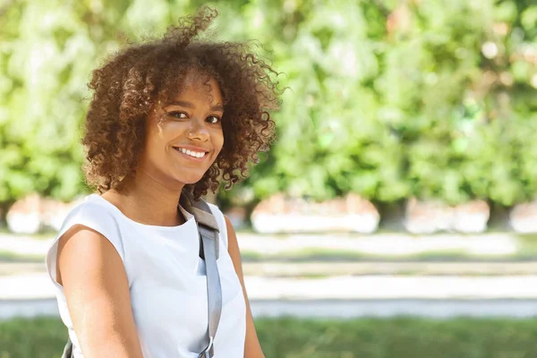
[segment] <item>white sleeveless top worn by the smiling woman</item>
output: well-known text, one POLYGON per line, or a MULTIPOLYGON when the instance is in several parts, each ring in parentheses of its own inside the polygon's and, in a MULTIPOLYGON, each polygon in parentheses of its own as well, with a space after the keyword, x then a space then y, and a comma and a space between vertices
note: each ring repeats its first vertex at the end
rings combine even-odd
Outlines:
MULTIPOLYGON (((243 357, 246 309, 243 290, 227 252, 224 215, 209 204, 220 228, 217 267, 222 283, 222 315, 215 337, 215 358, 243 357)), ((132 314, 144 358, 197 358, 207 344, 208 307, 205 262, 193 216, 181 226, 149 226, 125 217, 98 194, 88 195, 64 219, 47 251, 47 271, 55 286, 61 319, 68 328, 76 358, 83 358, 65 302, 56 281, 58 239, 73 225, 103 234, 123 260, 131 294, 132 314)))

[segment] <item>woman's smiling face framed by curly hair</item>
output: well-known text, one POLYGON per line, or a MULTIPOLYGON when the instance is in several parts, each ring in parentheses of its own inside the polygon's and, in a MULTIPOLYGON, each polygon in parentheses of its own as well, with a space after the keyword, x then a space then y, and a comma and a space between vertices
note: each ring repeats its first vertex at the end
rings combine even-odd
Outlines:
POLYGON ((154 108, 138 171, 173 190, 198 182, 224 145, 217 81, 190 72, 177 97, 154 108))

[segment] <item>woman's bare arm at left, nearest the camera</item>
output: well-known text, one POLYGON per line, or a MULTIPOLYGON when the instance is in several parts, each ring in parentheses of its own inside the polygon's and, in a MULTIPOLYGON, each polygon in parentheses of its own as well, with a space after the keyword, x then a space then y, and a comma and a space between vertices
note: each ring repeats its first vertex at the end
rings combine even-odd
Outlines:
POLYGON ((59 240, 57 280, 86 358, 142 358, 123 261, 105 236, 76 225, 59 240))

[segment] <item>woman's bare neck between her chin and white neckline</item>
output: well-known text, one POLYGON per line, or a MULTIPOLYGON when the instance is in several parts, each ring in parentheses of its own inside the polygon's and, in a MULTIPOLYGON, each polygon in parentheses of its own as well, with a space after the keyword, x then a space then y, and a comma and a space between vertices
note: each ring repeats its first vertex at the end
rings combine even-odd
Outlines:
POLYGON ((120 190, 113 189, 102 196, 118 207, 126 217, 153 226, 183 224, 177 203, 184 184, 166 186, 144 172, 124 180, 126 182, 120 190))

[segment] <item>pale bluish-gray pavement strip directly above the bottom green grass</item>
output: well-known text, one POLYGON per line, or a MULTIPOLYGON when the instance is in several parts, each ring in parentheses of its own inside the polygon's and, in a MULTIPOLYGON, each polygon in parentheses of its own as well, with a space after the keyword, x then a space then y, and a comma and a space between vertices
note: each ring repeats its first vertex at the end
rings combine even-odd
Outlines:
MULTIPOLYGON (((319 319, 412 315, 437 319, 467 317, 537 317, 537 300, 251 300, 255 318, 291 316, 319 319)), ((55 299, 0 300, 0 320, 59 317, 55 299)))

